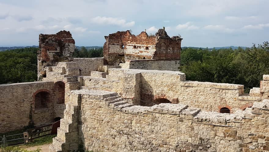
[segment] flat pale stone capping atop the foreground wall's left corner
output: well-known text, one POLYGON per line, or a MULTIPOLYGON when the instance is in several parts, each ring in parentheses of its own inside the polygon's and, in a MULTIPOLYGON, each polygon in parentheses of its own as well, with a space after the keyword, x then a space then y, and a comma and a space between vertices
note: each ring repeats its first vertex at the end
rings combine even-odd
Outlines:
POLYGON ((72 94, 82 95, 84 98, 109 98, 118 95, 116 92, 104 91, 104 90, 72 90, 72 94))

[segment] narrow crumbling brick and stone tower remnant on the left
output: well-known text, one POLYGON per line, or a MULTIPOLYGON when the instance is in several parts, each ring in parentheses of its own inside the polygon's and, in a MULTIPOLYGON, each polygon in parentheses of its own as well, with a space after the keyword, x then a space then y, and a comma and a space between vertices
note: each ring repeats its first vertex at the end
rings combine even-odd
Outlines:
POLYGON ((56 34, 39 35, 38 80, 46 77, 46 67, 55 66, 55 62, 72 61, 75 40, 69 31, 56 34))

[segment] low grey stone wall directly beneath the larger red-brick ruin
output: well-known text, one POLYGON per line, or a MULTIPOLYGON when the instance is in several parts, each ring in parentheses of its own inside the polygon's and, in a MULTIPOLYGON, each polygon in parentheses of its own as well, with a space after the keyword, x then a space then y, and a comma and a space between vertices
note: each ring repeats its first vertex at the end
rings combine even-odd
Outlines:
POLYGON ((164 60, 131 60, 120 63, 123 69, 144 69, 144 70, 168 70, 179 71, 180 61, 164 61, 164 60))

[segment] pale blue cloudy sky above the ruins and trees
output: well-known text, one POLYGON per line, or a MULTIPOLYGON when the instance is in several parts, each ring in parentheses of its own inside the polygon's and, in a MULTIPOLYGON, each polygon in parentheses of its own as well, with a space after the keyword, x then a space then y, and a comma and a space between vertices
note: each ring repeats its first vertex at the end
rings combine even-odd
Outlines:
POLYGON ((104 35, 166 27, 182 46, 251 46, 268 41, 268 0, 0 0, 0 46, 38 45, 39 33, 68 30, 78 46, 104 35))

